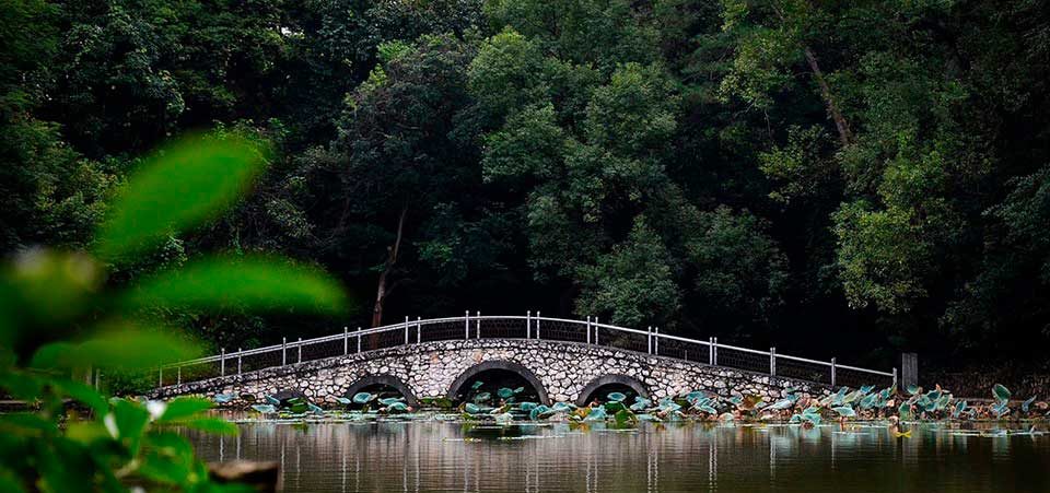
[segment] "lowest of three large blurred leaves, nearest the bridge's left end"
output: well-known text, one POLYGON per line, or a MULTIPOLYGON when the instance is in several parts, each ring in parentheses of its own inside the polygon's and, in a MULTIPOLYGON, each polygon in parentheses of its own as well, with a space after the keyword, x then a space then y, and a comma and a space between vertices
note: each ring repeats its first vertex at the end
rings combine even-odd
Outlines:
POLYGON ((34 368, 120 368, 142 369, 200 355, 200 349, 171 331, 147 330, 130 325, 103 329, 98 336, 80 343, 55 342, 33 355, 34 368))

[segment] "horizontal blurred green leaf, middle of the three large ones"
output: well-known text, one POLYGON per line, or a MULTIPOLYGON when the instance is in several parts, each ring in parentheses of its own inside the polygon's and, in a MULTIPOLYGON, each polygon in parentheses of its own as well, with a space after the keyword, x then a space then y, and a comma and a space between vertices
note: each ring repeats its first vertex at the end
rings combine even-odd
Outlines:
POLYGON ((347 298, 323 271, 278 257, 214 257, 142 281, 122 297, 128 309, 156 306, 342 313, 347 298))

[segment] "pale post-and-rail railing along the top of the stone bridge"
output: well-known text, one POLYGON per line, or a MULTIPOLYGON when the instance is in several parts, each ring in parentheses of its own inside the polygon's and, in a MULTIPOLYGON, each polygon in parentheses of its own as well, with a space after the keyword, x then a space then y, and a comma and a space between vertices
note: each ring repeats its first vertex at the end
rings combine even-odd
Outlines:
POLYGON ((708 340, 661 333, 660 328, 645 330, 586 320, 541 317, 539 312, 524 316, 482 316, 466 313, 463 317, 410 319, 370 329, 349 330, 314 339, 283 339, 280 344, 237 350, 173 363, 158 369, 158 386, 177 385, 208 378, 238 375, 257 369, 285 366, 340 355, 446 340, 537 339, 578 342, 646 353, 714 366, 765 373, 835 386, 896 385, 897 368, 891 372, 861 368, 830 361, 739 348, 708 340))

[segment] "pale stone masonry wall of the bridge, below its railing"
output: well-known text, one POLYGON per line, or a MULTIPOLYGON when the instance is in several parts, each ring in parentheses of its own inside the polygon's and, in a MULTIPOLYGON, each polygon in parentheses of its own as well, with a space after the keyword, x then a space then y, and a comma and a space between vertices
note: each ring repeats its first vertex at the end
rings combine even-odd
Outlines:
MULTIPOLYGON (((626 375, 639 380, 650 397, 660 399, 690 390, 711 390, 722 396, 737 391, 768 399, 796 387, 819 395, 826 386, 751 372, 710 366, 669 357, 572 342, 542 340, 452 340, 390 348, 163 387, 151 397, 168 398, 198 394, 264 395, 302 391, 318 404, 335 404, 359 378, 388 375, 402 382, 416 398, 446 397, 450 386, 471 366, 504 361, 529 369, 551 401, 575 401, 592 380, 606 375, 626 375)), ((349 396, 347 396, 349 397, 349 396)), ((249 402, 237 398, 230 407, 249 402)))

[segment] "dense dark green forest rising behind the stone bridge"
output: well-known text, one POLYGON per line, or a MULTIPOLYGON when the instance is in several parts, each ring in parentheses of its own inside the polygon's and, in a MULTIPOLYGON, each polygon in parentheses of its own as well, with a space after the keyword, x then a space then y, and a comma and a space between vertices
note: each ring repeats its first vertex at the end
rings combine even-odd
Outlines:
POLYGON ((348 317, 163 314, 214 349, 596 316, 856 364, 1048 369, 1041 0, 2 0, 0 253, 92 244, 143 156, 270 143, 205 251, 348 317))

